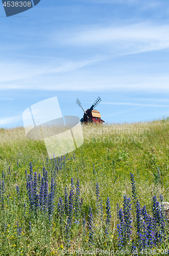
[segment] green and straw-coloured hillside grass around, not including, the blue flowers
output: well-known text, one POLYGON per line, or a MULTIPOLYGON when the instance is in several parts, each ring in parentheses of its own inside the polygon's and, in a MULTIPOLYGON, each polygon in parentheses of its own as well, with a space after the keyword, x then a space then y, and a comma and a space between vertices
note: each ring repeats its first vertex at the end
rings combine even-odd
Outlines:
MULTIPOLYGON (((33 215, 29 210, 25 171, 29 173, 29 164, 33 172, 42 175, 42 168, 51 169, 43 141, 27 139, 23 127, 0 130, 0 175, 5 174, 5 203, 1 210, 0 253, 2 255, 62 255, 66 248, 65 225, 60 225, 57 216, 59 197, 64 198, 64 188, 70 190, 70 179, 80 180, 80 196, 83 198, 83 212, 92 208, 94 217, 94 243, 92 248, 118 249, 116 204, 123 205, 123 196, 131 197, 130 173, 136 180, 137 197, 141 206, 146 205, 152 214, 152 197, 162 194, 169 202, 169 121, 167 118, 146 123, 124 123, 110 125, 84 125, 84 144, 75 153, 66 155, 66 163, 57 172, 57 194, 55 197, 54 218, 49 224, 47 214, 33 215), (68 160, 70 159, 70 160, 68 160), (17 164, 18 162, 18 164, 17 164), (9 172, 10 166, 10 172, 9 172), (160 171, 158 177, 157 168, 160 171), (111 225, 109 237, 105 236, 105 224, 102 225, 96 214, 95 186, 99 183, 106 219, 106 199, 111 203, 111 225), (20 189, 17 198, 16 185, 20 189), (9 195, 9 199, 7 198, 9 195), (15 200, 14 200, 15 198, 15 200), (26 204, 24 212, 23 204, 26 204), (56 216, 55 216, 56 215, 56 216), (32 222, 32 230, 29 222, 32 222), (22 228, 21 236, 17 234, 16 222, 22 228), (6 226, 5 226, 6 225, 6 226)), ((2 203, 0 205, 2 208, 2 203)), ((135 215, 132 205, 132 214, 135 215)), ((133 225, 135 225, 133 223, 133 225)), ((70 248, 89 247, 88 236, 83 236, 82 220, 79 225, 71 227, 70 248)), ((133 241, 135 240, 133 229, 133 241)), ((158 248, 167 248, 167 242, 158 248)), ((90 248, 90 249, 92 249, 90 248)), ((131 246, 129 247, 131 249, 131 246)), ((98 254, 99 255, 99 254, 98 254)), ((131 255, 131 253, 130 253, 131 255)))

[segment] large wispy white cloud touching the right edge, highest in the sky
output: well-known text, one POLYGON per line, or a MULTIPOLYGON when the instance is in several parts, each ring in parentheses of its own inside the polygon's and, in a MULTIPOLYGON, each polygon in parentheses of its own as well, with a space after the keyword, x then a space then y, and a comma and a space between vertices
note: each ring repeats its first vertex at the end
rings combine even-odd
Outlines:
MULTIPOLYGON (((78 30, 78 29, 77 29, 78 30)), ((169 47, 169 25, 148 22, 131 25, 93 26, 77 32, 60 34, 60 43, 78 47, 104 46, 103 52, 113 55, 133 54, 169 47), (66 34, 66 36, 65 36, 66 34), (68 39, 67 39, 68 38, 68 39), (108 47, 108 48, 107 48, 108 47)), ((57 35, 58 41, 58 35, 57 35)))

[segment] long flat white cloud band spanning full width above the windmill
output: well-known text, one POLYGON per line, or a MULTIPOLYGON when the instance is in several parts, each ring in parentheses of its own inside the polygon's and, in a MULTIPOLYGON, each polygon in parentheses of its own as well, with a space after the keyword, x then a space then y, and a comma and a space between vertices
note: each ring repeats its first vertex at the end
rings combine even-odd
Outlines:
POLYGON ((20 80, 10 80, 0 83, 0 90, 47 90, 47 91, 146 91, 169 92, 169 75, 162 74, 123 74, 121 70, 115 74, 102 72, 102 67, 96 73, 90 68, 67 73, 40 74, 20 80))

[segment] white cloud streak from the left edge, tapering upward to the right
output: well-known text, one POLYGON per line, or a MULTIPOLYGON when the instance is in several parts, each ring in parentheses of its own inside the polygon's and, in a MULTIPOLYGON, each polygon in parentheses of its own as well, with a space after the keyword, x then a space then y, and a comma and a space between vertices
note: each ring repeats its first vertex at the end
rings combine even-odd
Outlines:
POLYGON ((11 81, 11 83, 12 81, 22 81, 41 75, 44 76, 45 74, 52 75, 57 73, 75 71, 82 67, 92 65, 94 62, 97 62, 101 59, 101 57, 90 58, 88 60, 81 61, 56 59, 55 61, 47 62, 44 58, 44 60, 40 63, 35 62, 33 64, 32 62, 26 63, 25 61, 4 61, 0 63, 0 84, 9 81, 11 81))

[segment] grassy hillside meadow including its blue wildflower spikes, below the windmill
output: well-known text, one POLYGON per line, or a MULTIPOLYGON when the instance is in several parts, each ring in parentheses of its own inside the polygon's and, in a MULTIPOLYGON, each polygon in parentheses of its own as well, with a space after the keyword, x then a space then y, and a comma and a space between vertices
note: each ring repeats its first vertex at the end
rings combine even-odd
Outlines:
POLYGON ((51 160, 23 127, 0 129, 0 255, 168 254, 168 118, 83 133, 51 160))

